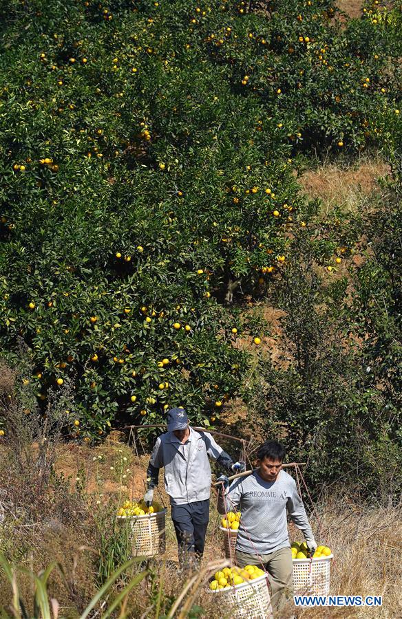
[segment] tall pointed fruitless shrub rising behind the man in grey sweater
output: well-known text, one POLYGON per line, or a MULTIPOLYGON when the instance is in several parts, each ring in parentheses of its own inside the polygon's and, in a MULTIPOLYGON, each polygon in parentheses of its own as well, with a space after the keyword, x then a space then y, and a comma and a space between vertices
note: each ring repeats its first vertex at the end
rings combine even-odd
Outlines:
MULTIPOLYGON (((340 467, 348 470, 359 420, 348 408, 352 368, 341 346, 341 329, 326 310, 328 290, 317 270, 317 248, 306 233, 295 247, 302 259, 288 265, 277 288, 277 305, 286 312, 281 320, 284 351, 275 365, 269 357, 260 360, 255 381, 262 387, 254 405, 269 431, 284 436, 288 458, 308 459, 307 475, 316 484, 337 477, 340 467)), ((343 290, 338 286, 337 296, 343 290)))

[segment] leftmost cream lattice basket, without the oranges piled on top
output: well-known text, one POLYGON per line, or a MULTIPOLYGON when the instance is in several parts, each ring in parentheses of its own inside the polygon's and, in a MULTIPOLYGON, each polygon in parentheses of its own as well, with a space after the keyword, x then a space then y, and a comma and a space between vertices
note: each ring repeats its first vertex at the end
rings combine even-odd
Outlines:
POLYGON ((129 523, 133 556, 156 556, 166 547, 165 519, 167 510, 144 516, 118 516, 120 523, 129 523))

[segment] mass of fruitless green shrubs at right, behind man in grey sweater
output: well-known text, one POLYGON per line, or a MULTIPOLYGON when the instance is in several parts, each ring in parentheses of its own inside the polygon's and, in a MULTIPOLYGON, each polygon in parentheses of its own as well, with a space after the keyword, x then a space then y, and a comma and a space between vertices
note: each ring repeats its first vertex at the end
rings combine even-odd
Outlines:
MULTIPOLYGON (((280 354, 275 362, 260 356, 246 392, 268 433, 283 437, 288 458, 308 462, 316 489, 341 480, 362 495, 401 492, 399 192, 399 184, 384 190, 381 207, 355 222, 372 240, 363 263, 350 266, 351 283, 331 281, 334 269, 322 268, 330 238, 295 239, 300 259, 275 289, 284 310, 280 354)), ((348 235, 353 228, 348 222, 348 235)))

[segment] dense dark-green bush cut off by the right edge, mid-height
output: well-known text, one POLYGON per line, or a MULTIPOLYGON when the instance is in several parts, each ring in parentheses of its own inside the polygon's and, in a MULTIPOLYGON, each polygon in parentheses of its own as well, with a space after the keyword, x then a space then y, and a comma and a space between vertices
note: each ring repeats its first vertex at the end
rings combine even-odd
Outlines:
MULTIPOLYGON (((400 166, 400 162, 399 162, 400 166)), ((365 221, 370 239, 355 272, 350 329, 359 343, 355 358, 366 368, 364 386, 381 393, 387 435, 401 444, 402 410, 402 177, 383 193, 381 206, 365 221)))

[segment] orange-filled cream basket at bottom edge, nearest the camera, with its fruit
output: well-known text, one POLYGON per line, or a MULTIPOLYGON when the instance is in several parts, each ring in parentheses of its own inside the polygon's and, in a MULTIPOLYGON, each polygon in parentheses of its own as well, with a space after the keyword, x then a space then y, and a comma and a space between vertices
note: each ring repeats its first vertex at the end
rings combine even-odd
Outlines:
POLYGON ((266 574, 256 565, 224 567, 210 580, 209 592, 220 596, 233 619, 272 617, 266 574))

